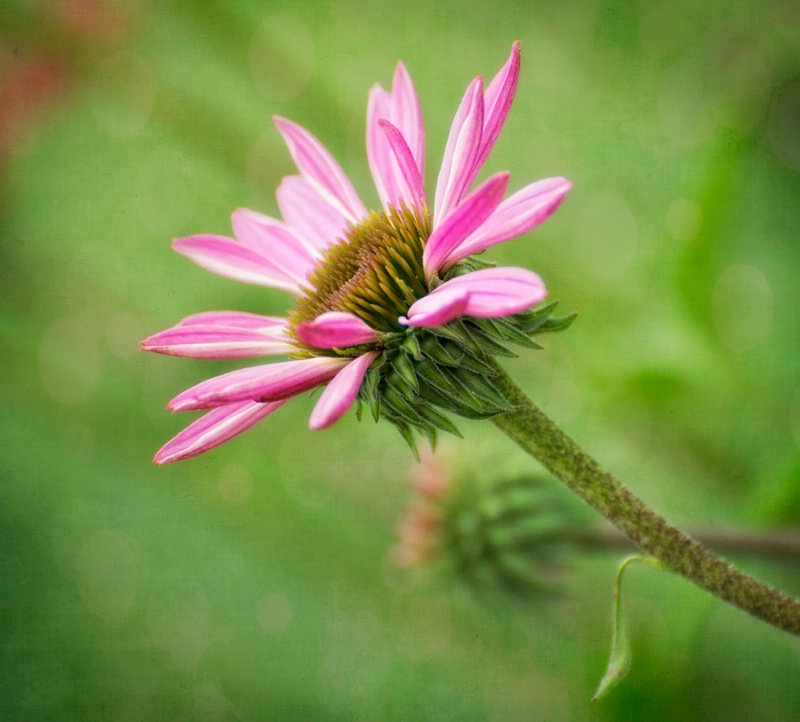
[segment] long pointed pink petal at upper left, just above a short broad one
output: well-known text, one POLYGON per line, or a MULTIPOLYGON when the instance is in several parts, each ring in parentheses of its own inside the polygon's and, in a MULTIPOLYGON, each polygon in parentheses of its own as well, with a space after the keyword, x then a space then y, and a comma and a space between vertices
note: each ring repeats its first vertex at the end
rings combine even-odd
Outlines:
POLYGON ((273 119, 303 177, 347 220, 358 223, 366 208, 325 146, 305 128, 278 116, 273 119))

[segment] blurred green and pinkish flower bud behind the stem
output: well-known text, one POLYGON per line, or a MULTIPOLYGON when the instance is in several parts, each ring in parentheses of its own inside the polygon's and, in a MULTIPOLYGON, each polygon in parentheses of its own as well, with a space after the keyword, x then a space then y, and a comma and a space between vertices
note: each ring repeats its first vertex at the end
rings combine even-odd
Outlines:
POLYGON ((478 597, 530 601, 560 593, 588 519, 544 473, 445 449, 422 455, 411 485, 414 499, 392 550, 398 566, 478 597))

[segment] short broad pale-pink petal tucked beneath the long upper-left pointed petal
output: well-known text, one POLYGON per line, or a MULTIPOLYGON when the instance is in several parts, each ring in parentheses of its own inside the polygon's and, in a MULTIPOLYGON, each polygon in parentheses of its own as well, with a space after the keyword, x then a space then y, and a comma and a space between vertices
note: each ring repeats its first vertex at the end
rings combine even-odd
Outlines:
POLYGON ((284 178, 276 196, 286 223, 313 248, 321 251, 344 237, 347 231, 344 216, 302 176, 284 178))

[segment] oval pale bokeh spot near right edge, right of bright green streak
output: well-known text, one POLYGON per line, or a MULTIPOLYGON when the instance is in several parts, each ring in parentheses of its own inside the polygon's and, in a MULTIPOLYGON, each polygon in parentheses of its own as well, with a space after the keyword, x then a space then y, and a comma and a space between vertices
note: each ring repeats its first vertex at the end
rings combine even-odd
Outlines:
POLYGON ((736 264, 726 268, 714 286, 714 325, 720 340, 746 350, 767 336, 773 299, 769 281, 757 268, 736 264))

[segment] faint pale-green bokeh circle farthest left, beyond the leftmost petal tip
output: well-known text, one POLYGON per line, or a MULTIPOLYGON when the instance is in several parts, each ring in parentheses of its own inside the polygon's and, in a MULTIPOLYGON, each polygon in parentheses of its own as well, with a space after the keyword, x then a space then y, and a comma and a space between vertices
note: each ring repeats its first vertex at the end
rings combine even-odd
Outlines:
POLYGON ((39 373, 45 390, 66 406, 84 403, 100 378, 96 334, 79 318, 61 318, 39 344, 39 373))

